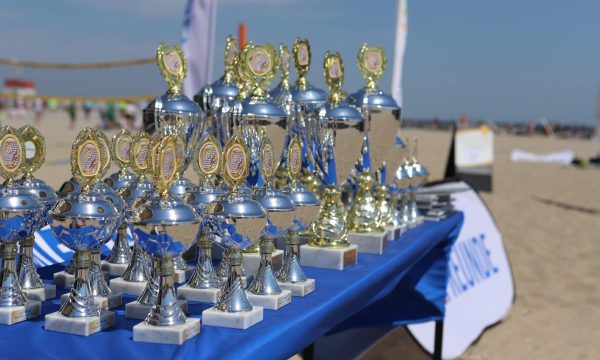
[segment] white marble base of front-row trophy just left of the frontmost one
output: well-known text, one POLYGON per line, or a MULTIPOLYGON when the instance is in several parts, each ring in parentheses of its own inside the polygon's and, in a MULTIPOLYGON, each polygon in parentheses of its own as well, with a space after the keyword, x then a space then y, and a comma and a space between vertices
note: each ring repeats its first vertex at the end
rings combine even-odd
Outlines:
POLYGON ((100 316, 68 317, 60 312, 46 315, 44 328, 73 335, 89 336, 115 325, 115 313, 101 311, 100 316))

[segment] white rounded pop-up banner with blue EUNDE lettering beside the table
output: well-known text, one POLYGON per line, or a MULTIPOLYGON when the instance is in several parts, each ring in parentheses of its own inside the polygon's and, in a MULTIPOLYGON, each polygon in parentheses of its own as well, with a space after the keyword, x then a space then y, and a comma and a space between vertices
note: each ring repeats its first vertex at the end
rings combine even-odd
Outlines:
MULTIPOLYGON (((506 315, 514 296, 514 284, 502 236, 477 193, 464 182, 438 185, 427 190, 458 190, 452 195, 465 219, 450 253, 450 277, 446 297, 442 357, 463 354, 483 331, 506 315)), ((435 323, 409 325, 409 331, 433 352, 435 323)))

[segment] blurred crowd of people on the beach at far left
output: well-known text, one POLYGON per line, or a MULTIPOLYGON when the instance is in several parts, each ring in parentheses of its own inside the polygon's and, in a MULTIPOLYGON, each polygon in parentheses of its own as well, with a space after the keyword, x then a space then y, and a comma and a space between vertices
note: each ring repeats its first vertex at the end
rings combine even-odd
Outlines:
POLYGON ((29 111, 33 112, 34 121, 40 123, 46 112, 65 111, 69 117, 69 128, 73 129, 76 122, 83 118, 90 121, 93 112, 100 118, 103 130, 127 128, 139 130, 142 127, 142 109, 144 102, 93 102, 59 101, 57 99, 6 99, 0 98, 0 120, 6 116, 10 119, 26 118, 29 111))

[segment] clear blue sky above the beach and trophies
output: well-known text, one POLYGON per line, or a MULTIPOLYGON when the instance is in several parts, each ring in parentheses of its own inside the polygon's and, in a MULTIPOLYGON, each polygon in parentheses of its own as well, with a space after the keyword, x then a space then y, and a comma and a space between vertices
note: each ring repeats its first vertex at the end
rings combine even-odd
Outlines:
MULTIPOLYGON (((160 42, 180 42, 186 1, 0 0, 0 57, 61 63, 152 57, 160 42)), ((396 7, 394 0, 220 0, 213 77, 223 72, 225 37, 243 21, 256 43, 308 38, 309 80, 319 87, 325 87, 325 51, 342 54, 344 89, 354 92, 363 83, 358 49, 363 42, 381 45, 390 66, 380 86, 389 91, 396 7)), ((593 125, 598 14, 597 0, 409 0, 405 116, 593 125)), ((12 75, 0 66, 0 79, 12 75)), ((158 95, 166 88, 154 65, 19 75, 35 80, 44 95, 158 95)))

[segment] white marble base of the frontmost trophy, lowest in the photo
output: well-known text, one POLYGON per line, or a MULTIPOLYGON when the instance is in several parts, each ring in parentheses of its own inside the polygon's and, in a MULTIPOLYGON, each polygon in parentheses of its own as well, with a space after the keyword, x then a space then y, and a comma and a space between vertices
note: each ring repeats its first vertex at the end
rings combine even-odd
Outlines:
POLYGON ((181 345, 200 334, 200 319, 187 318, 185 324, 155 326, 141 322, 133 327, 133 341, 181 345))

